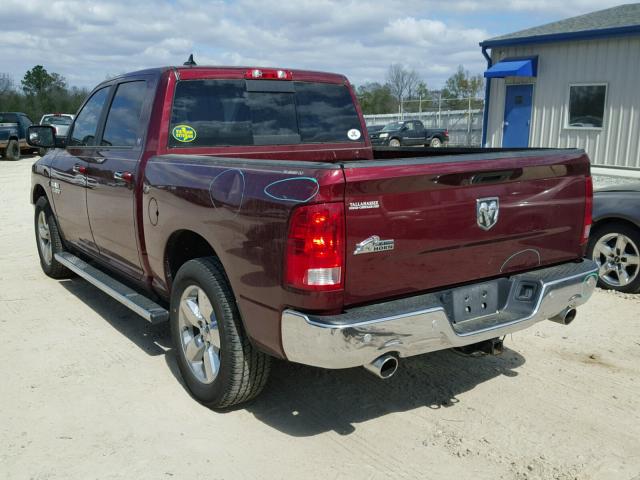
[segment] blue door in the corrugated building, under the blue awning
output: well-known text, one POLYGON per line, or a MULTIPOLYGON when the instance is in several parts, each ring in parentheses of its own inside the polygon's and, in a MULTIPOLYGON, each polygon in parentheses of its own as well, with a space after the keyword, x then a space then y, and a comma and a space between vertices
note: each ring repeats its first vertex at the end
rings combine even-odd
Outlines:
POLYGON ((528 147, 533 85, 507 85, 504 101, 503 147, 528 147))

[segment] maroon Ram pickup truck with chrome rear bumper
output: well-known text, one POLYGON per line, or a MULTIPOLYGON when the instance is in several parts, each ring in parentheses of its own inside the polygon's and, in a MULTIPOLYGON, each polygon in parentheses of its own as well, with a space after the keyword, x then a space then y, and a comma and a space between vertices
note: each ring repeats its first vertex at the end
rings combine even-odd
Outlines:
POLYGON ((223 408, 271 357, 388 378, 570 323, 597 280, 591 191, 581 150, 374 150, 341 75, 189 66, 96 87, 31 200, 44 272, 168 320, 186 385, 223 408))

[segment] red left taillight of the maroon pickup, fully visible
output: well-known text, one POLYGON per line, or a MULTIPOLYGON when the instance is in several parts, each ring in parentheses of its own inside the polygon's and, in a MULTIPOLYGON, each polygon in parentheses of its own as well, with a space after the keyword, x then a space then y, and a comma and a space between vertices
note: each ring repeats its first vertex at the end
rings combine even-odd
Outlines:
POLYGON ((304 290, 344 285, 344 205, 321 203, 295 209, 289 221, 285 283, 304 290))

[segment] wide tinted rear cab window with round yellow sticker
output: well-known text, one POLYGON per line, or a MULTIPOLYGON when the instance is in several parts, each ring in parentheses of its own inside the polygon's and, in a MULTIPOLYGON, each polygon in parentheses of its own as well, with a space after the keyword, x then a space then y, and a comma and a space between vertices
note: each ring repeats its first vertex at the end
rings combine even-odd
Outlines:
POLYGON ((361 139, 360 120, 345 85, 293 82, 293 88, 290 84, 289 88, 279 88, 276 84, 282 82, 264 82, 265 88, 260 90, 266 91, 247 91, 244 80, 178 82, 169 145, 276 145, 361 139))

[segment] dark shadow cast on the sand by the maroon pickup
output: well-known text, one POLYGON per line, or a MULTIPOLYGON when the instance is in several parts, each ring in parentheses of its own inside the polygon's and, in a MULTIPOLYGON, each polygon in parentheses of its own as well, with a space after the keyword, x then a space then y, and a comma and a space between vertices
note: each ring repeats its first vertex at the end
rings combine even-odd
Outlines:
MULTIPOLYGON (((147 354, 164 354, 168 368, 185 386, 168 325, 151 325, 84 280, 61 284, 147 354)), ((446 350, 402 359, 398 373, 383 381, 363 368, 323 370, 274 360, 263 393, 238 409, 295 437, 327 431, 348 435, 356 424, 393 412, 455 409, 460 394, 501 375, 516 376, 515 369, 524 362, 508 348, 498 357, 478 358, 446 350)))

